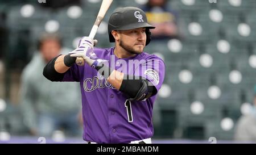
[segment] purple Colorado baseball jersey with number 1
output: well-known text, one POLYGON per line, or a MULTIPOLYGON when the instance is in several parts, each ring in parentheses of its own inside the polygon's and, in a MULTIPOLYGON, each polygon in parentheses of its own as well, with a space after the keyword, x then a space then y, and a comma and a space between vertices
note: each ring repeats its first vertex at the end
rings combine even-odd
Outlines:
MULTIPOLYGON (((142 52, 129 58, 118 58, 114 48, 94 48, 99 58, 119 72, 142 76, 159 90, 164 80, 164 62, 142 52)), ((143 101, 130 101, 88 64, 73 65, 63 81, 80 82, 82 95, 83 139, 96 143, 130 143, 152 137, 152 108, 156 95, 143 101)), ((131 86, 132 87, 132 86, 131 86)))

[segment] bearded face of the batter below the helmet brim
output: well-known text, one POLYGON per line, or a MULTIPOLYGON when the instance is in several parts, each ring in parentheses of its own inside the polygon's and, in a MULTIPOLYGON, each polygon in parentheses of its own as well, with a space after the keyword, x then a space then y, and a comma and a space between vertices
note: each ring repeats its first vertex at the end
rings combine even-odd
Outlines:
POLYGON ((119 46, 132 54, 140 54, 146 45, 146 28, 120 31, 119 46))

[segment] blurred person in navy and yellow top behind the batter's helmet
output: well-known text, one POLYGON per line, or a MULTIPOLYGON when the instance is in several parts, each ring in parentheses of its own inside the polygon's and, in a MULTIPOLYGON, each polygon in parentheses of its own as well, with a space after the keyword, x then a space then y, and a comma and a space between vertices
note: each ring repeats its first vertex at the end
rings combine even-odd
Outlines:
POLYGON ((156 27, 150 30, 152 39, 171 39, 179 35, 177 13, 166 4, 167 0, 148 0, 142 8, 146 12, 148 23, 156 27))

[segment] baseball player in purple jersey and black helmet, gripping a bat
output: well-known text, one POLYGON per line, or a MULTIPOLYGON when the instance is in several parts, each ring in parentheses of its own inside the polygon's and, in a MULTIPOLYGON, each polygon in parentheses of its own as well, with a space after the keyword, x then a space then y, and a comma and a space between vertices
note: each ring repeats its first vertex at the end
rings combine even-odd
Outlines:
POLYGON ((94 48, 96 40, 82 37, 74 51, 45 66, 51 81, 80 82, 88 143, 151 143, 152 108, 164 80, 163 60, 143 52, 151 28, 141 9, 122 7, 108 23, 115 47, 94 48), (77 65, 76 57, 85 65, 77 65))

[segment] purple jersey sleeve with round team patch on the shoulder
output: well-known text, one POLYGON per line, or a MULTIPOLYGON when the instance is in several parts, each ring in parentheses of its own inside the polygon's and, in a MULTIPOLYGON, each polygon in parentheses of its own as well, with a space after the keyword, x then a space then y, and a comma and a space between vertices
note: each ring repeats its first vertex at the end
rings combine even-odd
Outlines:
POLYGON ((163 60, 154 56, 144 61, 137 69, 135 76, 142 76, 156 87, 158 91, 164 81, 165 65, 163 60))

